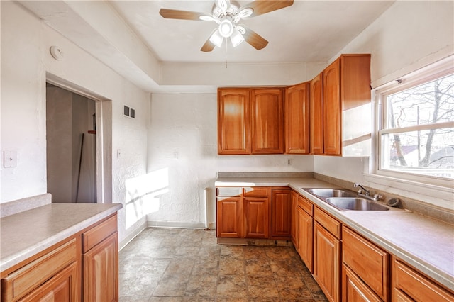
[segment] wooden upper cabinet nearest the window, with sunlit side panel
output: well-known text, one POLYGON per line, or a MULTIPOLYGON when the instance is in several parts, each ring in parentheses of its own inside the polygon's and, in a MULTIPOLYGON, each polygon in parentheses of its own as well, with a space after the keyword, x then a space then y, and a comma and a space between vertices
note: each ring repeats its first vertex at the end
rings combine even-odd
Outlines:
MULTIPOLYGON (((370 104, 370 55, 341 55, 323 70, 323 153, 343 155, 343 148, 370 135, 371 121, 362 105, 370 104), (345 121, 343 116, 347 114, 345 121), (360 130, 360 131, 358 131, 360 130)), ((367 111, 370 113, 370 111, 367 111)), ((356 150, 348 156, 365 155, 356 150)))

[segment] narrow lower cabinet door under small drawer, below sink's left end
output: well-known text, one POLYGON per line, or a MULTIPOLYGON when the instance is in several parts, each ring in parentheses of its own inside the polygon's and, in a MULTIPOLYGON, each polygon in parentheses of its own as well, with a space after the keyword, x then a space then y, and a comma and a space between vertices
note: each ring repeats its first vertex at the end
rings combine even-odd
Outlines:
POLYGON ((301 207, 298 207, 298 228, 298 254, 309 271, 314 273, 314 267, 312 266, 314 218, 301 207))

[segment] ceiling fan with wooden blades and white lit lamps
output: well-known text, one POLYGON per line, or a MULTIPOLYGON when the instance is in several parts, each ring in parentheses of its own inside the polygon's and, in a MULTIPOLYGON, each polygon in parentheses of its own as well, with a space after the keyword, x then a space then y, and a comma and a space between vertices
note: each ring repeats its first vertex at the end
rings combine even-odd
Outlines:
POLYGON ((218 27, 214 29, 208 40, 201 47, 203 52, 210 52, 214 50, 215 46, 221 47, 224 38, 230 38, 233 47, 246 41, 256 50, 261 50, 268 44, 268 41, 247 26, 238 24, 238 22, 245 18, 252 18, 270 11, 283 9, 293 4, 293 0, 256 0, 245 6, 239 6, 236 1, 214 1, 211 13, 179 11, 177 9, 160 9, 159 13, 162 17, 169 19, 216 22, 218 27))

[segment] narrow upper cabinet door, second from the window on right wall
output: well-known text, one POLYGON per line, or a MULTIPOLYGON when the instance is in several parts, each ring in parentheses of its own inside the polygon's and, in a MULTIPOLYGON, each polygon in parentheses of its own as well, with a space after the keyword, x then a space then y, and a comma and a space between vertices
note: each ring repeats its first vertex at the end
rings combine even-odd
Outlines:
POLYGON ((323 154, 323 72, 309 86, 311 153, 323 154))

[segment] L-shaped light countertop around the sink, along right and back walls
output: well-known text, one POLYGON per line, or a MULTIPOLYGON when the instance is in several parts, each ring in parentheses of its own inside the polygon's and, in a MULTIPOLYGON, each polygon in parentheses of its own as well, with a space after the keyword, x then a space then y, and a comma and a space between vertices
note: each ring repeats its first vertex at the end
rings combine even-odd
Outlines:
POLYGON ((336 188, 313 178, 218 177, 216 186, 289 186, 343 225, 454 291, 454 225, 411 211, 339 211, 304 189, 336 188))

